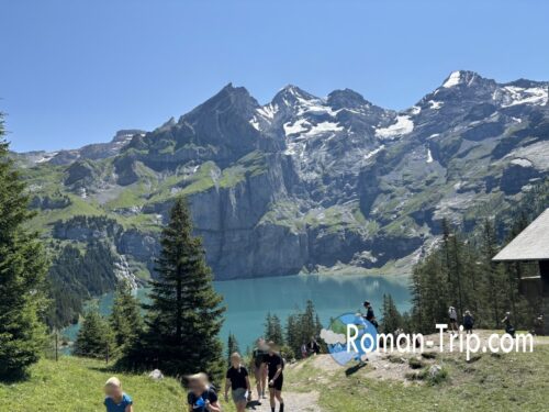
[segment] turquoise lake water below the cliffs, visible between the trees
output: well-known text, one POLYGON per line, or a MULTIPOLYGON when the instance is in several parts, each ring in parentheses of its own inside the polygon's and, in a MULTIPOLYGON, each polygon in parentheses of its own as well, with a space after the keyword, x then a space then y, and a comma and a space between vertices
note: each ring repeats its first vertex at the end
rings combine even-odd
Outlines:
MULTIPOLYGON (((236 335, 240 349, 251 346, 264 334, 265 316, 270 311, 285 323, 287 316, 303 309, 307 299, 314 302, 324 326, 332 318, 346 312, 362 310, 362 302, 372 302, 376 315, 381 318, 383 293, 391 294, 400 311, 410 309, 406 278, 381 276, 299 275, 277 278, 240 279, 214 282, 215 290, 224 298, 227 308, 222 339, 226 343, 229 332, 236 335)), ((147 289, 137 296, 145 300, 147 289)), ((113 294, 100 299, 100 310, 110 313, 113 294)), ((67 327, 65 334, 76 336, 78 325, 67 327)))

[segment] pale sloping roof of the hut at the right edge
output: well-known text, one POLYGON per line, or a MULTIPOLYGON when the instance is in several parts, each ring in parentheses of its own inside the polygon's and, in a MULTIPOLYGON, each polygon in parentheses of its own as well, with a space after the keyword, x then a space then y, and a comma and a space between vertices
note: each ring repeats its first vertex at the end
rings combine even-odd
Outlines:
POLYGON ((549 260, 549 209, 546 209, 492 260, 549 260))

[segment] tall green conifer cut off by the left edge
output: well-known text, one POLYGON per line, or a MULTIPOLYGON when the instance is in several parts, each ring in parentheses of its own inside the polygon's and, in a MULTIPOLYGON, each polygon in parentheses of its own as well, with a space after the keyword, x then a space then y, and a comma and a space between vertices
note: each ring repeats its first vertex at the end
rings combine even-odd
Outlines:
POLYGON ((46 336, 47 260, 37 235, 23 227, 33 214, 2 136, 0 113, 0 379, 15 379, 38 360, 46 336))

